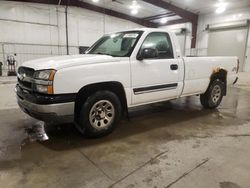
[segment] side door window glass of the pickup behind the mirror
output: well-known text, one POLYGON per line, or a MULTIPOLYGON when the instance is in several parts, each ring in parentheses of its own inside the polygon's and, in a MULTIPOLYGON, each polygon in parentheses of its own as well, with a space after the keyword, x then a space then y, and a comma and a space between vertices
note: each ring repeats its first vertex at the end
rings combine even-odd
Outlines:
POLYGON ((154 59, 173 59, 173 48, 170 37, 167 33, 150 33, 144 40, 140 52, 145 48, 153 48, 157 51, 154 59))

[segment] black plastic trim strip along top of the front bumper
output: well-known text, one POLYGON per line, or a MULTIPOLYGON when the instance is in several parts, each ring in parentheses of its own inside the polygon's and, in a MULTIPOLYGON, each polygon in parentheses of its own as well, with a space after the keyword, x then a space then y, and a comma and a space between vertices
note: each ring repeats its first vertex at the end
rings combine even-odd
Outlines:
POLYGON ((21 99, 42 105, 74 102, 76 99, 76 93, 60 95, 38 94, 22 89, 18 84, 16 85, 16 92, 21 99))

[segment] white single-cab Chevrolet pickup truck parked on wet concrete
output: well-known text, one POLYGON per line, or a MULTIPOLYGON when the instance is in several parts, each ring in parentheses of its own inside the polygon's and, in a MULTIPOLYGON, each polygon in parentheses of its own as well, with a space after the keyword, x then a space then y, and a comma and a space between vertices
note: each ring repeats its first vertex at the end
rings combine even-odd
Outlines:
POLYGON ((144 28, 105 35, 84 55, 23 63, 16 93, 30 116, 69 120, 97 137, 139 105, 200 95, 216 108, 238 70, 237 57, 183 57, 175 34, 144 28))

